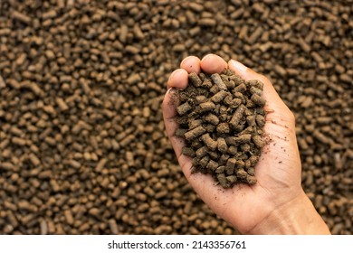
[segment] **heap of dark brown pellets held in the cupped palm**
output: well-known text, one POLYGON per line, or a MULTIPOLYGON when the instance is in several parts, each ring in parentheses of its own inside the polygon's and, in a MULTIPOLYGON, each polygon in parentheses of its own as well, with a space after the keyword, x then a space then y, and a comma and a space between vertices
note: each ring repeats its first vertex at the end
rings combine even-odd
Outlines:
POLYGON ((224 188, 256 183, 265 104, 259 80, 243 80, 232 70, 189 74, 177 90, 176 136, 186 140, 182 153, 193 158, 192 173, 210 173, 224 188))

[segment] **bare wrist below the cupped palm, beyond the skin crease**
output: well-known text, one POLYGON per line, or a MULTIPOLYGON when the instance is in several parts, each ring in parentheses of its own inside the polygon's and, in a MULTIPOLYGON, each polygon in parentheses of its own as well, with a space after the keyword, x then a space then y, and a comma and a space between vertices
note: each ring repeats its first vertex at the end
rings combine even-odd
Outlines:
POLYGON ((308 196, 301 193, 288 201, 249 231, 252 234, 330 234, 308 196))

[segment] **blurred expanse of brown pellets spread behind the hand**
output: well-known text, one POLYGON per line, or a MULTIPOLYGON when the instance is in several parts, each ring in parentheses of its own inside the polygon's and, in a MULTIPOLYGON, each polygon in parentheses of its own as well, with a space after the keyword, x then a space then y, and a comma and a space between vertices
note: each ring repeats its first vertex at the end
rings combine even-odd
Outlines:
POLYGON ((271 78, 295 113, 302 183, 353 232, 353 5, 0 1, 0 233, 230 234, 164 133, 168 75, 214 52, 271 78))

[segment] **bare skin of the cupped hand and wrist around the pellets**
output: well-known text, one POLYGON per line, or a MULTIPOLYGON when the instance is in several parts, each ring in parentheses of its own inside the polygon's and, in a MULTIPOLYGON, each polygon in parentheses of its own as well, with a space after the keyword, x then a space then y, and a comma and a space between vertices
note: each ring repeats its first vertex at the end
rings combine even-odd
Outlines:
POLYGON ((178 162, 203 201, 224 220, 243 234, 329 234, 329 229, 301 187, 301 159, 295 134, 295 118, 272 86, 270 80, 245 67, 238 61, 225 62, 215 54, 202 60, 189 56, 167 81, 167 93, 162 105, 167 136, 176 152, 178 162), (224 68, 234 70, 244 80, 261 80, 262 97, 267 112, 263 130, 269 141, 262 148, 255 166, 257 183, 240 183, 232 189, 215 185, 210 175, 191 174, 192 159, 181 154, 182 139, 174 136, 175 89, 187 87, 187 75, 203 70, 212 74, 224 68))

